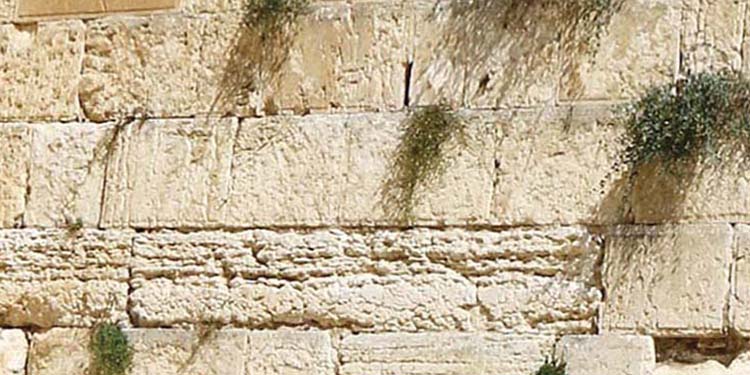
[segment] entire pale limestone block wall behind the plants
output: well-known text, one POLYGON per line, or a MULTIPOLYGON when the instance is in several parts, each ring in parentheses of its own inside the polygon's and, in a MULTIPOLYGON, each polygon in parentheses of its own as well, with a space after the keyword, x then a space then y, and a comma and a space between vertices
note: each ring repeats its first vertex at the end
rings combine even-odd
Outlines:
POLYGON ((628 180, 608 121, 750 74, 746 0, 624 0, 588 51, 533 2, 317 0, 221 113, 240 0, 48 3, 0 0, 0 375, 86 374, 103 322, 131 374, 750 371, 750 172, 628 180), (440 101, 471 147, 406 226, 389 160, 440 101))

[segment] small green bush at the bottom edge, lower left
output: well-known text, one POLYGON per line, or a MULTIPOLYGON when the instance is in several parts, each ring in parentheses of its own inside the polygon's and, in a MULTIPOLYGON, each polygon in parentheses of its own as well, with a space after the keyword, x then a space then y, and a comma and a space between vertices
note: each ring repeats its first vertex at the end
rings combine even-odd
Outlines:
POLYGON ((93 375, 125 375, 133 360, 127 336, 113 324, 102 324, 91 337, 93 375))

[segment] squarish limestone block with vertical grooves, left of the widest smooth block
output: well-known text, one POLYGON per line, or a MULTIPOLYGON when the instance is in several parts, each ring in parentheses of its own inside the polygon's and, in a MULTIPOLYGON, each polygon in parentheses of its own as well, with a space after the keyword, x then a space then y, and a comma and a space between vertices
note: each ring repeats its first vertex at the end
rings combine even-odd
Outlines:
POLYGON ((236 127, 236 119, 136 120, 124 126, 107 169, 102 225, 219 225, 236 127))

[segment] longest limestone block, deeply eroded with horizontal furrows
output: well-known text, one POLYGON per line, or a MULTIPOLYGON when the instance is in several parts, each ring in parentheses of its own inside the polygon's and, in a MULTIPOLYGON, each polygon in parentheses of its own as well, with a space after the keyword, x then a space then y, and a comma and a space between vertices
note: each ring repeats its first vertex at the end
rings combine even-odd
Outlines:
POLYGON ((590 332, 601 299, 590 241, 575 228, 138 235, 131 316, 143 326, 590 332), (488 321, 475 322, 477 306, 488 321))

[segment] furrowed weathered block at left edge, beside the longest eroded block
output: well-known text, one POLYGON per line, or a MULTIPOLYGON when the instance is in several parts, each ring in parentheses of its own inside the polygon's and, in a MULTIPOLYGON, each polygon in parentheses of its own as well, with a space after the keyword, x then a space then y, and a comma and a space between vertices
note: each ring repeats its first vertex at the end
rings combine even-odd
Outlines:
POLYGON ((0 325, 88 326, 126 319, 130 235, 0 232, 0 325))

